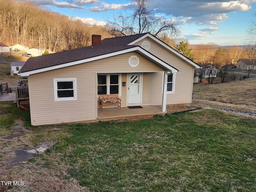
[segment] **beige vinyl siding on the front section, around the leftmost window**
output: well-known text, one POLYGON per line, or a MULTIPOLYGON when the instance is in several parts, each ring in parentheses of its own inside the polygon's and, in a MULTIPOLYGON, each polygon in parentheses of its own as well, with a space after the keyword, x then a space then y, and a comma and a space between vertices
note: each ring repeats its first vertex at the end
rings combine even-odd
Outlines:
MULTIPOLYGON (((122 73, 122 81, 126 82, 127 72, 152 71, 163 70, 138 53, 132 52, 30 75, 28 81, 31 123, 36 126, 96 120, 97 73, 122 73), (137 67, 131 67, 128 64, 128 59, 133 55, 140 60, 137 67), (54 101, 54 78, 76 78, 77 100, 54 101)), ((120 97, 122 106, 126 105, 126 91, 127 82, 126 87, 122 87, 122 96, 120 97)))

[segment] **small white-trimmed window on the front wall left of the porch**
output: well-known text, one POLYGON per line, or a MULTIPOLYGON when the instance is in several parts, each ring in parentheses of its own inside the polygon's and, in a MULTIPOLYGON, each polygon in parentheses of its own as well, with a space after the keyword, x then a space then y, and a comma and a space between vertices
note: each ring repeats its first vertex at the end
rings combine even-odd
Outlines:
POLYGON ((76 78, 54 79, 54 101, 77 100, 76 78))

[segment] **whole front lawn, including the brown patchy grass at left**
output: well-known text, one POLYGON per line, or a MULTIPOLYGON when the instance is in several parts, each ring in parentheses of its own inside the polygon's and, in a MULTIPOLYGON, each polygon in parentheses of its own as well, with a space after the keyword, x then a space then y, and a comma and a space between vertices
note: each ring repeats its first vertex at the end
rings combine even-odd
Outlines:
MULTIPOLYGON (((9 102, 0 110, 11 112, 0 114, 1 136, 12 133, 18 116, 28 121, 28 113, 9 102)), ((24 148, 43 141, 56 144, 12 167, 7 180, 22 180, 24 186, 10 191, 256 189, 255 118, 201 109, 136 122, 26 126, 33 132, 25 134, 24 148)), ((0 142, 2 150, 11 145, 0 142)))

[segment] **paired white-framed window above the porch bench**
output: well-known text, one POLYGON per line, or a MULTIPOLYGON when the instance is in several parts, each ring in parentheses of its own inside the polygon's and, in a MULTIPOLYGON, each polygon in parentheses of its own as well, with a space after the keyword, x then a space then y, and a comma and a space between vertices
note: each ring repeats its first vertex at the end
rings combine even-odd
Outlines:
POLYGON ((98 74, 98 95, 119 94, 121 74, 98 74))

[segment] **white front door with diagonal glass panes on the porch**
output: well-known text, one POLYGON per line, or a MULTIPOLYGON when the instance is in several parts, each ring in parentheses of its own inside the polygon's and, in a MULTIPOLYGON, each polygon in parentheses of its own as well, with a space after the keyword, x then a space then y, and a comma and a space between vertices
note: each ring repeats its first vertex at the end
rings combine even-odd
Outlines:
POLYGON ((132 73, 128 75, 128 105, 141 104, 142 74, 132 73))

